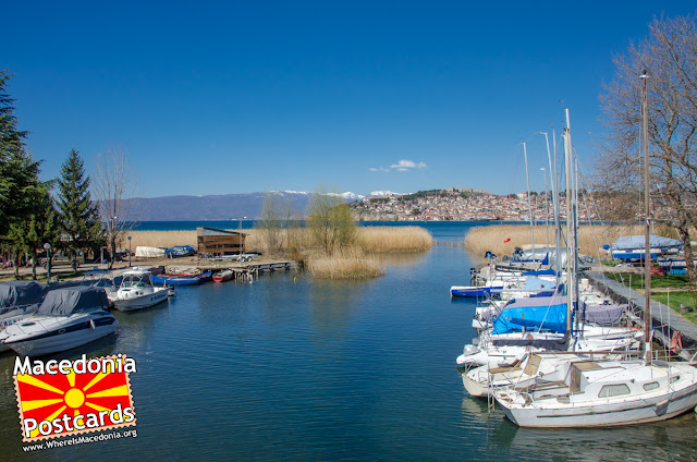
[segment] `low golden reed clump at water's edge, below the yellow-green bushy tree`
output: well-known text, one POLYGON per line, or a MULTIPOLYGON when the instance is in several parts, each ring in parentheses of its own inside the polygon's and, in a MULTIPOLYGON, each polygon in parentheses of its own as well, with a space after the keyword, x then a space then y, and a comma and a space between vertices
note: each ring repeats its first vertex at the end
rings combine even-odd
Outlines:
POLYGON ((321 279, 365 279, 384 273, 380 260, 358 247, 332 255, 311 255, 305 260, 305 269, 310 276, 321 279))

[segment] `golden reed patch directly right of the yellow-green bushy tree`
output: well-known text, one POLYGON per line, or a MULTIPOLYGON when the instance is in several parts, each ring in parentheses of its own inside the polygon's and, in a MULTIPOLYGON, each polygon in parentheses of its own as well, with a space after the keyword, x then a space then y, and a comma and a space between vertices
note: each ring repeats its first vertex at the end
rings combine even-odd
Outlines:
POLYGON ((433 238, 420 227, 365 227, 358 228, 357 243, 367 252, 426 252, 433 238))

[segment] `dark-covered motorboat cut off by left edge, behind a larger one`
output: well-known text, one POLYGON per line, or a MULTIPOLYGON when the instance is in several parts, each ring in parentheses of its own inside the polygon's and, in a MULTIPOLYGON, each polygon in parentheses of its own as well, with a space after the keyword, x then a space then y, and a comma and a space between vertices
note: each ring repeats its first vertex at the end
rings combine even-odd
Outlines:
MULTIPOLYGON (((0 331, 36 313, 48 292, 48 285, 37 281, 0 283, 0 331)), ((0 343, 0 353, 10 348, 0 343)))

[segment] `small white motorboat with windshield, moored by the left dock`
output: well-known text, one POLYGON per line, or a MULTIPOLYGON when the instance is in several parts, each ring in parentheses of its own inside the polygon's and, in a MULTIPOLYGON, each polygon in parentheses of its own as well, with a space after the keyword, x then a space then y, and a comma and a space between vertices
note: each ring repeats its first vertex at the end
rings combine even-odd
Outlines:
POLYGON ((120 312, 143 309, 162 303, 168 297, 167 287, 155 287, 147 269, 132 268, 122 273, 121 285, 109 296, 120 312))

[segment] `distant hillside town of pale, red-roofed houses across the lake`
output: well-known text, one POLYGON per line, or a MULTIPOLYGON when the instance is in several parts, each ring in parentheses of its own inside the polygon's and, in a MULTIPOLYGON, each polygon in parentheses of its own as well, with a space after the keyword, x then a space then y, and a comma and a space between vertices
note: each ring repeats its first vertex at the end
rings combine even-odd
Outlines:
MULTIPOLYGON (((585 195, 579 196, 578 218, 582 221, 598 217, 585 195)), ((534 220, 553 220, 551 194, 530 193, 534 220)), ((356 220, 364 221, 528 221, 530 218, 527 193, 498 196, 481 190, 449 187, 447 190, 419 191, 414 194, 389 193, 368 196, 351 204, 356 220)), ((566 217, 566 202, 560 200, 560 216, 566 217)))

